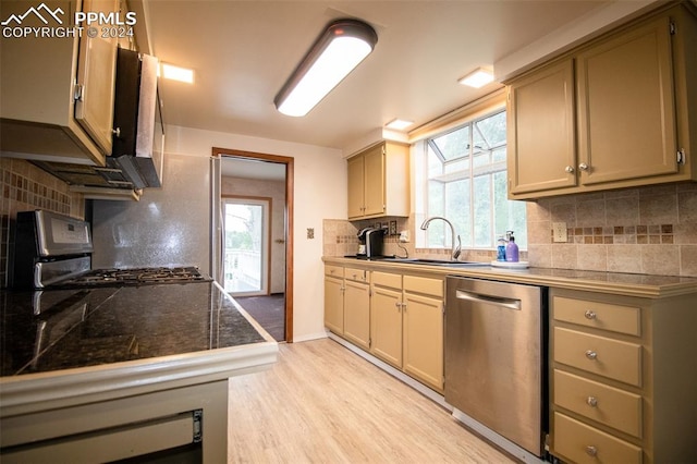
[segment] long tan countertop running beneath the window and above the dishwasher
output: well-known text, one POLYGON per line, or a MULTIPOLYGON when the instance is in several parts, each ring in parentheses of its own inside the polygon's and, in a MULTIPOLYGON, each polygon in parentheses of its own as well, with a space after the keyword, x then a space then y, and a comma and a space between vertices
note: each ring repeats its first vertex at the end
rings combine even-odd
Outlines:
MULTIPOLYGON (((334 256, 325 256, 322 261, 326 264, 335 264, 341 266, 358 266, 362 268, 368 268, 371 270, 386 270, 386 271, 405 271, 409 273, 418 274, 431 274, 431 276, 461 276, 472 277, 479 279, 490 279, 512 283, 524 283, 543 286, 553 286, 557 289, 568 289, 579 291, 592 291, 601 293, 614 293, 626 296, 639 296, 648 298, 665 298, 685 294, 697 293, 697 279, 690 278, 676 278, 685 279, 685 282, 673 283, 637 283, 637 282, 619 282, 608 281, 610 277, 637 277, 641 274, 625 274, 613 272, 599 272, 599 271, 573 271, 573 270, 555 270, 547 268, 529 268, 524 270, 518 269, 501 269, 492 267, 473 267, 473 268, 449 268, 442 266, 428 266, 428 265, 408 265, 394 261, 380 261, 380 260, 364 260, 355 258, 344 258, 334 256), (560 276, 545 276, 546 272, 560 272, 560 276), (595 273, 597 278, 590 278, 587 276, 576 277, 572 273, 595 273), (606 280, 601 279, 601 276, 606 280)), ((646 276, 649 277, 649 276, 646 276)), ((653 276, 657 280, 667 279, 664 276, 653 276)))

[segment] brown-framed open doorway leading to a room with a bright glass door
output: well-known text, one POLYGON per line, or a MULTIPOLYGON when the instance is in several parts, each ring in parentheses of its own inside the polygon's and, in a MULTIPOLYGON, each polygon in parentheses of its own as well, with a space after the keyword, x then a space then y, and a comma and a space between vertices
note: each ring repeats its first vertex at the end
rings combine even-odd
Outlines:
POLYGON ((277 341, 290 343, 293 341, 293 158, 225 148, 213 148, 212 155, 221 162, 220 216, 224 223, 221 245, 233 249, 230 256, 223 253, 225 290, 277 341), (232 233, 228 233, 229 229, 232 233), (249 236, 243 236, 243 229, 249 236), (258 236, 253 237, 254 234, 258 236), (249 243, 255 240, 260 246, 249 243), (233 284, 233 280, 236 283, 233 284))

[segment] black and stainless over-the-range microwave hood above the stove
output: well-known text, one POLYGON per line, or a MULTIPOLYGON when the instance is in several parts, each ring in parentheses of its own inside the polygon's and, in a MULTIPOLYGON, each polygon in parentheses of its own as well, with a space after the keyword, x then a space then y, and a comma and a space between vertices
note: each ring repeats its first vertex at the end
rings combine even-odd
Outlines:
POLYGON ((164 125, 157 91, 158 60, 122 48, 117 60, 114 133, 107 166, 29 159, 85 198, 138 199, 143 188, 162 185, 164 125))

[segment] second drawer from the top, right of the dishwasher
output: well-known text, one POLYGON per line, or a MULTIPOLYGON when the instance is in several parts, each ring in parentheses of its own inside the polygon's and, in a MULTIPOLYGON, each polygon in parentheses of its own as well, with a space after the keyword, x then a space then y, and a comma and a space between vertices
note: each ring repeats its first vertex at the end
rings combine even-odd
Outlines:
POLYGON ((553 350, 558 363, 641 386, 641 345, 555 327, 553 350))

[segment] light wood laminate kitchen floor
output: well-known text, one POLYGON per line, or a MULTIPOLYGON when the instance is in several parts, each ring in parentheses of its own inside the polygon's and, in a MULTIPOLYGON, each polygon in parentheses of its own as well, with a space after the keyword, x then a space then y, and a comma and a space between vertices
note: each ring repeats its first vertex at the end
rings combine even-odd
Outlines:
POLYGON ((232 463, 511 463, 438 404, 339 343, 281 344, 230 380, 232 463))

